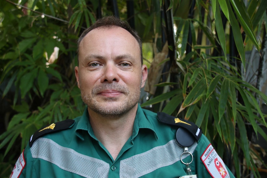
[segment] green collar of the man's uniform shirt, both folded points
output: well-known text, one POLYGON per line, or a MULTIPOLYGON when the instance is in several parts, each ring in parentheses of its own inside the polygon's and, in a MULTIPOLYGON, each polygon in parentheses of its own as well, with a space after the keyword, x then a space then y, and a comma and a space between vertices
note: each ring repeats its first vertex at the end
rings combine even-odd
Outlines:
MULTIPOLYGON (((131 141, 133 141, 134 138, 138 135, 138 132, 140 129, 151 130, 154 133, 155 138, 159 139, 157 136, 157 133, 155 132, 154 126, 151 124, 150 120, 147 118, 147 115, 145 114, 146 111, 147 110, 142 109, 141 106, 138 104, 136 116, 134 119, 134 128, 133 128, 133 134, 132 134, 131 141)), ((156 118, 151 118, 151 119, 155 119, 157 121, 156 118)), ((88 132, 91 137, 93 137, 95 140, 97 140, 97 138, 94 135, 93 129, 91 127, 90 121, 89 121, 89 115, 88 115, 87 107, 85 108, 83 115, 81 116, 81 118, 77 124, 77 127, 75 129, 75 134, 81 140, 84 140, 84 136, 83 136, 84 131, 88 132)))

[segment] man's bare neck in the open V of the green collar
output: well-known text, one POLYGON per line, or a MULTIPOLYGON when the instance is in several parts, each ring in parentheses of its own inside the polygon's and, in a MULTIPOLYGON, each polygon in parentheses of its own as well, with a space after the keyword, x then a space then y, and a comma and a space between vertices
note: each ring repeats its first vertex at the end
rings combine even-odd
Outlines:
POLYGON ((123 115, 99 115, 88 108, 89 120, 96 138, 107 148, 115 160, 131 137, 138 105, 123 115))

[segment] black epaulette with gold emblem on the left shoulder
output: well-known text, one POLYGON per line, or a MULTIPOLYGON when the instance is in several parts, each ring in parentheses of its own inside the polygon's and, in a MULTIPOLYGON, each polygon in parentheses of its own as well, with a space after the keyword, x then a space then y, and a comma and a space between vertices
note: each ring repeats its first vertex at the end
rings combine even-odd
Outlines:
POLYGON ((66 130, 68 128, 71 128, 73 126, 74 122, 75 121, 72 120, 72 119, 66 119, 66 120, 63 120, 63 121, 60 121, 60 122, 56 122, 56 123, 50 124, 47 127, 44 127, 44 128, 41 128, 41 129, 37 130, 29 140, 30 147, 32 147, 33 142, 35 140, 37 140, 37 138, 42 137, 42 136, 44 136, 44 135, 46 135, 48 133, 58 132, 60 130, 66 130))

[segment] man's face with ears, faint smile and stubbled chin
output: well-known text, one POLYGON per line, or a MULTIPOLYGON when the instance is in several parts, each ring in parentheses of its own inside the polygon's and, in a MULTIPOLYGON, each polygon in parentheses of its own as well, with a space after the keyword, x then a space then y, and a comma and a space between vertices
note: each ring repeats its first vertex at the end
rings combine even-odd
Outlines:
POLYGON ((138 42, 128 31, 96 28, 80 43, 75 75, 89 111, 121 115, 137 106, 147 66, 141 65, 138 42))

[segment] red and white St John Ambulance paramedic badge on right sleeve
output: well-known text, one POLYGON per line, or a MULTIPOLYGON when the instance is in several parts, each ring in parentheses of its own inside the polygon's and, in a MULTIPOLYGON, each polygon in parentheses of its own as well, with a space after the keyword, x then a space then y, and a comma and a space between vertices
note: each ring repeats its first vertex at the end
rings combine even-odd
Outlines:
POLYGON ((230 178, 225 164, 211 144, 201 155, 201 160, 213 178, 230 178))

